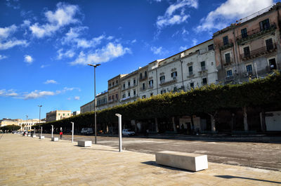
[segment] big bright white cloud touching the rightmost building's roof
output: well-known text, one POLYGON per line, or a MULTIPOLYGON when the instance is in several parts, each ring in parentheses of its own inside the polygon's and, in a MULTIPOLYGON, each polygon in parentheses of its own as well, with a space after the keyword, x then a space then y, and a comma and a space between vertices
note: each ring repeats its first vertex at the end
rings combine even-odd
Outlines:
POLYGON ((202 18, 197 32, 223 29, 234 19, 244 18, 273 4, 273 0, 228 0, 202 18))

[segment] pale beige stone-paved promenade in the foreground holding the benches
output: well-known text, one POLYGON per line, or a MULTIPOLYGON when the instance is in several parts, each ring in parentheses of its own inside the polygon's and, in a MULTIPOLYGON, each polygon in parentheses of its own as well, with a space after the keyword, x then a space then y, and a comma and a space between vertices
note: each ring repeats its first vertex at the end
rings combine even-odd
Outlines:
POLYGON ((281 185, 279 171, 209 163, 194 173, 105 145, 4 134, 0 147, 0 185, 281 185))

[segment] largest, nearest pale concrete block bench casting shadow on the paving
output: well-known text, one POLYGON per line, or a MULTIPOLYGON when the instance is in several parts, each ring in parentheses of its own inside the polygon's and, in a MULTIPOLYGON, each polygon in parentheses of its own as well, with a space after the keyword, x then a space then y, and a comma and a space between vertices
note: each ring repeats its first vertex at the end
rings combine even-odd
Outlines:
POLYGON ((186 152, 162 151, 155 153, 157 164, 182 168, 189 171, 201 171, 208 168, 207 155, 186 152))

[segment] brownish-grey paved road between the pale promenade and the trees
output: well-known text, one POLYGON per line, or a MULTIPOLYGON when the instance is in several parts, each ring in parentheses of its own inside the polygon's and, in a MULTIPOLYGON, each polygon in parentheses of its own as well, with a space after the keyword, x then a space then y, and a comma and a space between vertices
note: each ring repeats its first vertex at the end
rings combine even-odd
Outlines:
MULTIPOLYGON (((50 134, 44 134, 51 136, 50 134)), ((58 136, 58 135, 56 135, 58 136)), ((236 140, 221 138, 181 137, 178 139, 155 138, 123 138, 126 150, 155 154, 162 150, 207 154, 210 162, 263 168, 281 171, 281 143, 270 142, 237 142, 236 140)), ((256 140, 249 137, 251 140, 256 140)), ((63 139, 71 140, 71 135, 64 135, 63 139)), ((74 140, 94 140, 92 135, 75 135, 74 140)), ((276 139, 276 138, 274 138, 276 139)), ((273 141, 275 141, 272 139, 273 141)), ((244 139, 247 140, 247 139, 244 139)), ((117 137, 98 136, 98 145, 118 147, 117 137)))

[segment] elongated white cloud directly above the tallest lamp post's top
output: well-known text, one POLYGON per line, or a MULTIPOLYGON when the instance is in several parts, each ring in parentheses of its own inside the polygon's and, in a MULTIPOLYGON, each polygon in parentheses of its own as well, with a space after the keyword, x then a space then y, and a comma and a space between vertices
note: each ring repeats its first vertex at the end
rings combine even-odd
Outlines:
POLYGON ((85 54, 81 51, 78 58, 70 62, 70 64, 86 65, 88 63, 107 62, 130 52, 129 48, 124 48, 121 44, 113 44, 110 42, 107 46, 96 49, 94 53, 85 54))

